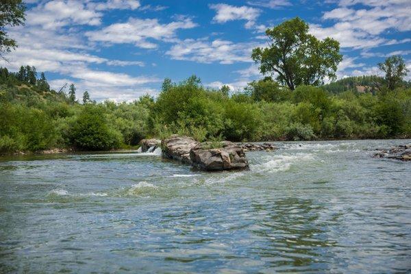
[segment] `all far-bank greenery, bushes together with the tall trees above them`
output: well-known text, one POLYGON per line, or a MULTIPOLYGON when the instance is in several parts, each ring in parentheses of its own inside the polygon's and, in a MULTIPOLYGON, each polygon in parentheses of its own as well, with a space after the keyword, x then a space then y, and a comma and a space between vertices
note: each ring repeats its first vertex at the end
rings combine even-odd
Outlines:
POLYGON ((53 90, 34 66, 0 68, 0 155, 129 149, 173 134, 211 144, 411 138, 411 82, 403 80, 401 56, 378 64, 385 77, 336 81, 337 40, 317 39, 298 17, 266 36, 269 47, 251 54, 263 78, 242 90, 208 88, 192 75, 164 79, 156 98, 97 103, 83 91, 80 103, 74 84, 53 90))

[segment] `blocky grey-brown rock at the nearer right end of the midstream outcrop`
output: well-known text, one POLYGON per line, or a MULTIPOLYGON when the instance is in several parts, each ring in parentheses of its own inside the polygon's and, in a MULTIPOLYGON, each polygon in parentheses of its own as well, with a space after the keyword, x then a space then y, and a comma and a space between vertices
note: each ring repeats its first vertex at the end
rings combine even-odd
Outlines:
POLYGON ((190 151, 192 166, 203 171, 249 169, 242 147, 223 141, 221 147, 210 149, 210 142, 201 142, 190 151))

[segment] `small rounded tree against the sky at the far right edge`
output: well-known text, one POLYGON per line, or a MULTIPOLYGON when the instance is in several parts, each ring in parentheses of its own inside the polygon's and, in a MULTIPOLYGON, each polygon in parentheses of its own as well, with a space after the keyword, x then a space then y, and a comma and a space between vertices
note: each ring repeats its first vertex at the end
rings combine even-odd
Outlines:
POLYGON ((407 76, 409 70, 400 55, 393 55, 378 64, 379 69, 386 74, 385 79, 390 90, 394 90, 403 82, 403 77, 407 76))

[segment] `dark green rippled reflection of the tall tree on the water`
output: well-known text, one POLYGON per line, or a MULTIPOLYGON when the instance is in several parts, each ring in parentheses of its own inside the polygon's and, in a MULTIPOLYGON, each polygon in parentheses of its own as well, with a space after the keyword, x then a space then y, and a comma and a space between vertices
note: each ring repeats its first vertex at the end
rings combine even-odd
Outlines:
POLYGON ((258 237, 251 253, 269 263, 268 269, 287 271, 325 271, 321 264, 324 247, 335 242, 327 239, 327 224, 319 221, 326 210, 311 199, 265 199, 251 204, 253 216, 260 216, 250 231, 258 237), (310 267, 308 267, 310 266, 310 267))

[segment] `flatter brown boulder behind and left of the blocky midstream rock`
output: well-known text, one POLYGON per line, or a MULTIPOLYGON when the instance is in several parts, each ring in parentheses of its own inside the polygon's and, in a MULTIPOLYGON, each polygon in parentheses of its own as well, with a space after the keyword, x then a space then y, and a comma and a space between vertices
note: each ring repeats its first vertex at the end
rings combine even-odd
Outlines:
POLYGON ((190 150, 198 144, 199 142, 191 137, 173 135, 162 140, 162 155, 164 158, 191 164, 190 150))

